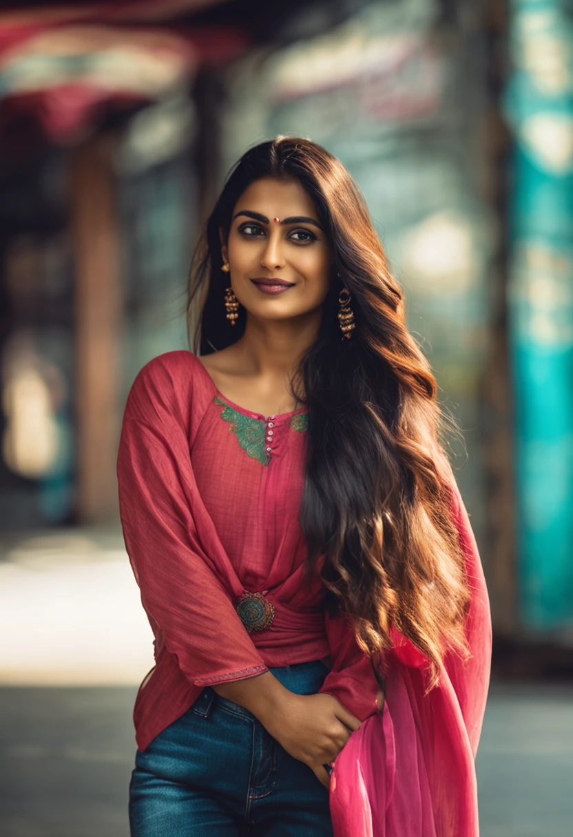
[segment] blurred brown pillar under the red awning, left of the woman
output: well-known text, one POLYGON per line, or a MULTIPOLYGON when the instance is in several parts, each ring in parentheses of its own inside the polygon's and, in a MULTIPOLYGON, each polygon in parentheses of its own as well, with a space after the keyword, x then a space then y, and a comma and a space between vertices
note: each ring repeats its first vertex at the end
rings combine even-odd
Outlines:
POLYGON ((79 521, 116 513, 121 293, 112 142, 98 137, 71 164, 75 249, 79 521))

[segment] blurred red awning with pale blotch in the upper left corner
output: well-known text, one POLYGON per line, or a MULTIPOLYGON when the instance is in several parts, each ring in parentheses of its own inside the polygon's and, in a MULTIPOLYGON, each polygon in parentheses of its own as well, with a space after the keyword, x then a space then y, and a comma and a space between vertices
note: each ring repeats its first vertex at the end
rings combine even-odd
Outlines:
POLYGON ((137 0, 0 14, 4 120, 32 112, 50 139, 69 141, 102 105, 158 100, 189 85, 200 64, 223 62, 248 45, 244 32, 170 23, 217 2, 137 0))

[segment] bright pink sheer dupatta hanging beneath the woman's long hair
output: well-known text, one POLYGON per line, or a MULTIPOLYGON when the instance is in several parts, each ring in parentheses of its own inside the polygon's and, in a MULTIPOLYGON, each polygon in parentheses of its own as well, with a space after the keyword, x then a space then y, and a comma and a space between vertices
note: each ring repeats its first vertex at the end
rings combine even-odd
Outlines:
MULTIPOLYGON (((333 763, 335 837, 478 837, 474 759, 488 696, 492 628, 478 547, 455 485, 452 501, 472 593, 472 657, 464 665, 448 654, 439 686, 424 697, 425 657, 394 629, 395 646, 386 652, 384 711, 363 721, 333 763)), ((329 629, 337 630, 337 620, 329 629)))

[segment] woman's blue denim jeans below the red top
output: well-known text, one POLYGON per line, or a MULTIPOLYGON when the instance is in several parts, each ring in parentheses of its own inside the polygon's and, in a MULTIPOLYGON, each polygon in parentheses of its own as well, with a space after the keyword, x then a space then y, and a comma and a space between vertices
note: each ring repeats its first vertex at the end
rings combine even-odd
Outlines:
MULTIPOLYGON (((322 660, 271 668, 297 695, 323 685, 322 660)), ((207 686, 194 705, 137 750, 132 837, 332 837, 328 788, 261 721, 207 686)))

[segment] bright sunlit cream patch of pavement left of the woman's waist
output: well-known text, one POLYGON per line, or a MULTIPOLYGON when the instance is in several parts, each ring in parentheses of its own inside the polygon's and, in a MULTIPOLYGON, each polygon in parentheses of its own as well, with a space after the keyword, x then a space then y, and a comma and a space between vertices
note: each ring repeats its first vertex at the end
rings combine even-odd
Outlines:
POLYGON ((0 686, 140 683, 153 638, 121 530, 4 536, 0 636, 0 686))

